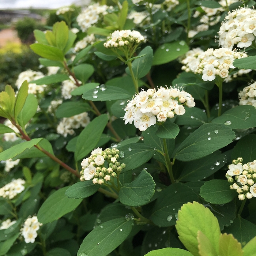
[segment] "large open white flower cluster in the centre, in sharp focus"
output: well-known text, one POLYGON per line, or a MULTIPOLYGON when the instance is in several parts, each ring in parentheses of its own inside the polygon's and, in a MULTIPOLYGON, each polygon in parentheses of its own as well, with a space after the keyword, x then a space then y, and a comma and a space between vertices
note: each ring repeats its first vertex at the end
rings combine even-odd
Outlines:
POLYGON ((192 95, 179 88, 148 89, 135 95, 125 107, 125 124, 132 124, 140 131, 146 131, 148 127, 157 121, 165 122, 167 118, 173 118, 174 114, 185 114, 183 105, 192 108, 195 106, 192 95))

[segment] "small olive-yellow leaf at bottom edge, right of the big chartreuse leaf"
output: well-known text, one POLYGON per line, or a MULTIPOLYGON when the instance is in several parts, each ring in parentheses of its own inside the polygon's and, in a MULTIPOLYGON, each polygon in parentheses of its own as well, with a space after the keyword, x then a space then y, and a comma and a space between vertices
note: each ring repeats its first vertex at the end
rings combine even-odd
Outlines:
POLYGON ((219 237, 219 255, 243 256, 242 246, 232 234, 221 234, 219 237))

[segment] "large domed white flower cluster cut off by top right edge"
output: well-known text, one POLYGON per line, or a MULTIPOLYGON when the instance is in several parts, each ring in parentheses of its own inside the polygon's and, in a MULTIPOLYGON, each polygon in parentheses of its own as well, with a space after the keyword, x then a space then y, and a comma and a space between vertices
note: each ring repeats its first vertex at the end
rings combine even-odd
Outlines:
POLYGON ((228 12, 219 29, 219 45, 232 49, 234 45, 247 48, 252 45, 256 35, 256 11, 239 8, 228 12))

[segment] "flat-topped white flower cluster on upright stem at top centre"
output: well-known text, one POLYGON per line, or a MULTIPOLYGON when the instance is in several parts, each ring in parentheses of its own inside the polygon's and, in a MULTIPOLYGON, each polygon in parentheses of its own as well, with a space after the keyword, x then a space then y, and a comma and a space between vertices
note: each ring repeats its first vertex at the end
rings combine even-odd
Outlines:
POLYGON ((106 48, 115 47, 118 48, 124 45, 139 45, 143 42, 146 42, 146 38, 136 30, 116 30, 109 37, 108 40, 104 43, 106 48))

